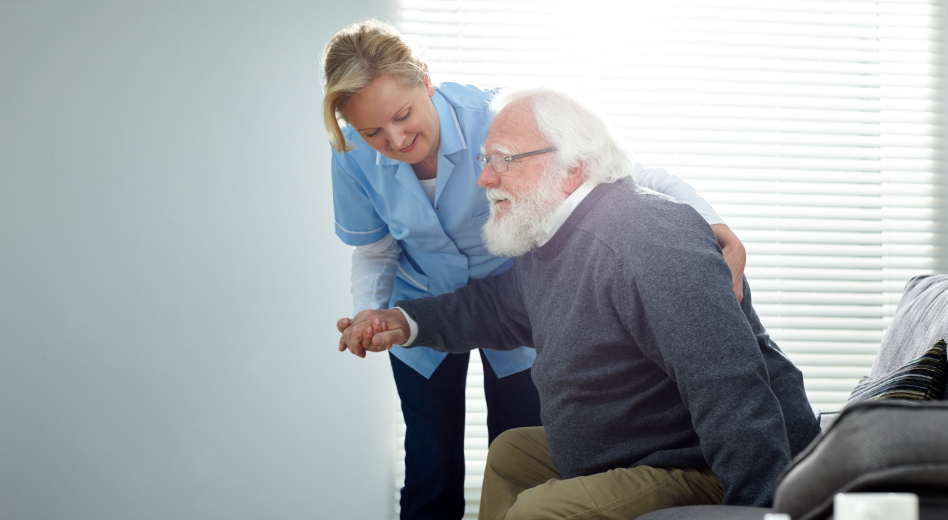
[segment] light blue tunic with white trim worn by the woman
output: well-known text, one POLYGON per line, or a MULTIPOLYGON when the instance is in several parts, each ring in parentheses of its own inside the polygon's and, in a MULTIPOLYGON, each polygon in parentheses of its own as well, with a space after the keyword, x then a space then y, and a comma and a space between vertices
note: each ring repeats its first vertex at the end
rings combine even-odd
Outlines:
MULTIPOLYGON (((402 246, 389 306, 453 292, 470 279, 501 274, 513 264, 491 256, 481 242, 490 214, 484 188, 477 185, 475 155, 487 139, 492 91, 445 83, 431 100, 438 110, 441 144, 434 205, 411 165, 373 150, 352 127, 343 128, 354 149, 332 152, 332 192, 336 235, 360 246, 391 233, 402 246)), ((430 378, 447 354, 417 346, 392 347, 392 354, 430 378)), ((485 350, 498 377, 530 368, 536 352, 485 350)))

